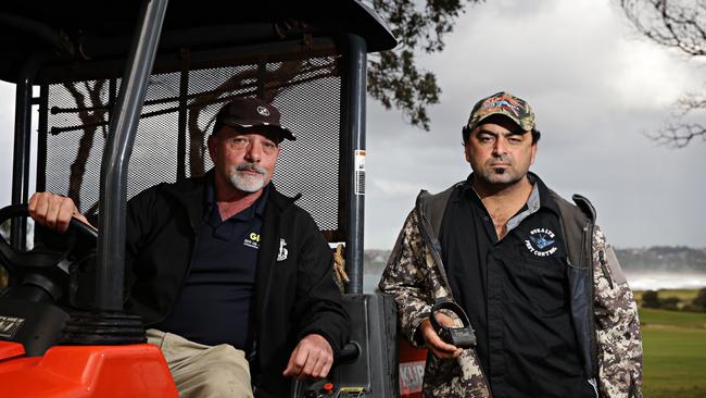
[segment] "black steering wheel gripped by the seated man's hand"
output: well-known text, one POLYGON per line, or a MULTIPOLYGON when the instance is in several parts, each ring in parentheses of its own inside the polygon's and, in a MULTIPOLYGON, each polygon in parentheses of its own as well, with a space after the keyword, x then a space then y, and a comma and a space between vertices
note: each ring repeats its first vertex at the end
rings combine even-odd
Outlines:
MULTIPOLYGON (((29 211, 27 204, 11 204, 0 209, 0 224, 8 220, 16 217, 28 217, 29 211)), ((60 268, 60 263, 67 260, 71 253, 85 250, 87 247, 96 247, 98 241, 98 232, 90 225, 79 220, 72 219, 68 223, 67 235, 42 227, 43 232, 49 232, 48 237, 66 237, 65 246, 61 250, 33 249, 30 251, 21 251, 13 248, 0 238, 0 265, 4 266, 11 276, 22 278, 23 285, 34 285, 43 288, 58 299, 61 296, 62 276, 65 277, 66 271, 60 268), (56 290, 59 288, 59 290, 56 290)))

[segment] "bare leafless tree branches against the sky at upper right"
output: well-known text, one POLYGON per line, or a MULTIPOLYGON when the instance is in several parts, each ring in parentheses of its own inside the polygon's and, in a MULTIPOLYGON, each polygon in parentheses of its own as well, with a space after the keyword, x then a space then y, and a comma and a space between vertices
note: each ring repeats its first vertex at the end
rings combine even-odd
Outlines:
MULTIPOLYGON (((648 39, 686 54, 706 58, 706 3, 693 0, 619 0, 628 20, 648 39)), ((675 105, 671 121, 648 137, 683 148, 693 139, 706 141, 706 125, 689 116, 706 110, 706 97, 686 94, 675 105)))

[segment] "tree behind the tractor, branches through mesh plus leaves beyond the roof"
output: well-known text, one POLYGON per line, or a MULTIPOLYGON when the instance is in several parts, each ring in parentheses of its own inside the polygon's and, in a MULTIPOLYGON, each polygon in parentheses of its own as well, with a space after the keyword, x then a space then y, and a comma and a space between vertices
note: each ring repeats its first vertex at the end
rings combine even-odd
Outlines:
MULTIPOLYGON (((426 0, 423 5, 413 0, 373 0, 375 10, 387 20, 392 33, 400 40, 398 48, 371 54, 368 64, 368 92, 390 109, 393 105, 415 126, 429 129, 427 107, 439 102, 441 89, 432 72, 420 71, 416 66, 416 54, 436 52, 444 48, 444 35, 451 33, 455 18, 463 12, 465 3, 478 3, 483 0, 426 0)), ((306 75, 308 80, 336 75, 335 62, 312 64, 304 61, 279 62, 275 69, 240 70, 222 82, 218 87, 202 92, 189 100, 188 134, 189 163, 188 175, 201 175, 205 172, 206 153, 204 137, 212 126, 214 115, 203 125, 202 112, 214 104, 243 95, 259 94, 272 101, 280 91, 300 84, 298 76, 306 75), (266 74, 266 78, 262 78, 266 74), (262 78, 262 82, 259 82, 262 78), (264 85, 260 87, 260 85, 264 85)), ((209 73, 203 72, 203 73, 209 73)), ((179 85, 163 84, 160 77, 152 76, 151 85, 159 86, 166 92, 164 98, 152 100, 160 104, 159 110, 143 111, 141 117, 160 116, 177 112, 179 85), (174 103, 171 103, 174 102, 174 103)), ((106 96, 108 80, 68 82, 64 89, 73 98, 76 107, 65 113, 75 113, 80 121, 75 126, 63 130, 83 129, 79 148, 71 165, 70 186, 65 194, 87 214, 98 211, 98 202, 81 203, 80 192, 89 156, 93 150, 97 134, 108 135, 111 99, 106 96)), ((148 101, 150 102, 150 101, 148 101)), ((146 102, 147 103, 147 102, 146 102)))

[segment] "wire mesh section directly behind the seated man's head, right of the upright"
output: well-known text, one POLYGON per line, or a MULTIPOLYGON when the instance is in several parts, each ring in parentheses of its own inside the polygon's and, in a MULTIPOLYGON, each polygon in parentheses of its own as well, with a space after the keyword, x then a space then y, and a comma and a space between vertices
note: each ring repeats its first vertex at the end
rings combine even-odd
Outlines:
MULTIPOLYGON (((339 220, 341 79, 331 75, 332 70, 337 71, 337 62, 335 58, 327 58, 268 63, 264 72, 259 65, 194 71, 189 79, 189 95, 196 96, 192 104, 214 97, 213 92, 227 101, 236 96, 254 96, 261 91, 261 97, 279 109, 281 124, 292 130, 297 140, 281 144, 273 181, 285 195, 302 194, 298 203, 314 216, 323 231, 336 231, 339 220), (327 65, 328 70, 322 71, 320 65, 327 65), (297 74, 285 80, 281 74, 292 72, 281 71, 297 71, 297 74), (259 73, 265 78, 257 85, 252 76, 259 73), (217 85, 220 80, 223 83, 217 85), (229 88, 234 80, 242 84, 229 88)), ((189 120, 198 121, 194 124, 189 122, 189 175, 199 175, 213 165, 207 154, 202 153, 215 114, 225 101, 219 100, 205 109, 200 105, 189 109, 189 120), (194 115, 197 112, 198 116, 194 115)))

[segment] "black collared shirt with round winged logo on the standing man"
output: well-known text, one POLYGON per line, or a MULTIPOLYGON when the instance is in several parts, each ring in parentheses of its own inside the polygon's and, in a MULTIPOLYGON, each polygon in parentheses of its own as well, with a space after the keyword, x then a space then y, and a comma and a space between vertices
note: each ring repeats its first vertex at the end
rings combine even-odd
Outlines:
POLYGON ((441 257, 493 396, 594 396, 571 326, 566 251, 549 189, 530 175, 532 192, 499 240, 472 177, 446 204, 441 257))

